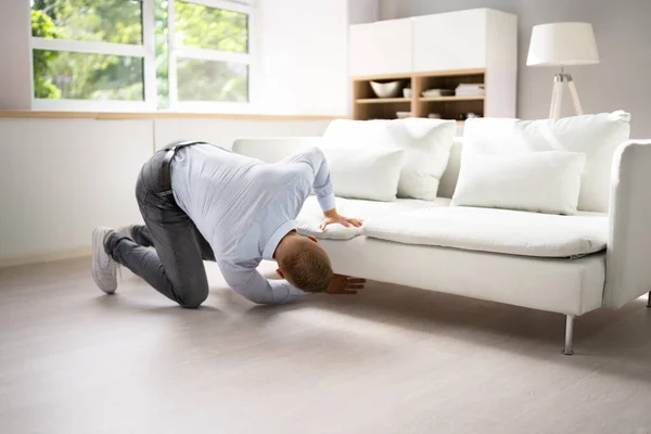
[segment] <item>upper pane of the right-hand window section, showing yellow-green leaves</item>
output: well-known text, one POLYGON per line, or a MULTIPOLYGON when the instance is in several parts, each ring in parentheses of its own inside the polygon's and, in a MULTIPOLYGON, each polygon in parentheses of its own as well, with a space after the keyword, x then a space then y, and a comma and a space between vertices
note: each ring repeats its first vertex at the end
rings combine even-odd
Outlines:
POLYGON ((248 15, 176 1, 175 39, 179 46, 248 52, 248 15))

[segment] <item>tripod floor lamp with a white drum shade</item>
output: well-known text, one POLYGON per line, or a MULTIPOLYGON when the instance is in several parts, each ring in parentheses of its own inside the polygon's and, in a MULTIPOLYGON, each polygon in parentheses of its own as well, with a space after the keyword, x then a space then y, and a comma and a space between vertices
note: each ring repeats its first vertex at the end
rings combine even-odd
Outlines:
POLYGON ((589 23, 551 23, 534 26, 526 59, 527 66, 560 66, 561 73, 553 76, 549 117, 561 116, 564 84, 570 88, 572 102, 577 115, 583 107, 572 76, 565 66, 592 65, 599 63, 595 33, 589 23))

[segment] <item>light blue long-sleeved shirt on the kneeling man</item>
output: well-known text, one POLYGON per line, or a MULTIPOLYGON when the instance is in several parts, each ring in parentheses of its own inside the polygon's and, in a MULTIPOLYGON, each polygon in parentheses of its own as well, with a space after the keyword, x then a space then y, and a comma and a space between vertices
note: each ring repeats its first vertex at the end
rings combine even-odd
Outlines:
POLYGON ((180 149, 171 163, 177 204, 213 247, 227 283, 258 304, 286 303, 306 293, 286 280, 267 280, 256 267, 273 259, 280 240, 315 191, 321 209, 334 208, 330 171, 318 148, 276 164, 209 144, 180 149))

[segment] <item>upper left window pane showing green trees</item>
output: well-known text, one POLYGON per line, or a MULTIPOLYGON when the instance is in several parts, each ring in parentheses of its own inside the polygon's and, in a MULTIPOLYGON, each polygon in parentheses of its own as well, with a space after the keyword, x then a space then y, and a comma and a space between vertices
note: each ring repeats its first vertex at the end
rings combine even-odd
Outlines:
POLYGON ((142 44, 142 2, 33 0, 31 36, 142 44))

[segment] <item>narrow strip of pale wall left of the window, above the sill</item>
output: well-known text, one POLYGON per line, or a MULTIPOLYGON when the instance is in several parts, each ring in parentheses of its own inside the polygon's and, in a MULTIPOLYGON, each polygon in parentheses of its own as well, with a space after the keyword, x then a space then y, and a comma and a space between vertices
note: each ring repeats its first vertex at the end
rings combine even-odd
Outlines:
POLYGON ((29 1, 0 2, 0 110, 29 110, 29 1))

